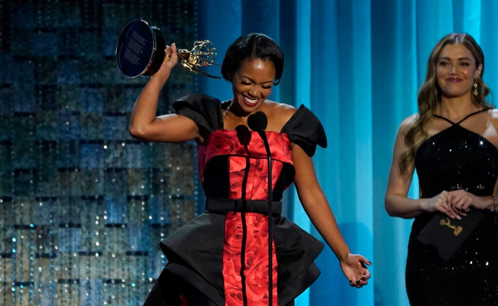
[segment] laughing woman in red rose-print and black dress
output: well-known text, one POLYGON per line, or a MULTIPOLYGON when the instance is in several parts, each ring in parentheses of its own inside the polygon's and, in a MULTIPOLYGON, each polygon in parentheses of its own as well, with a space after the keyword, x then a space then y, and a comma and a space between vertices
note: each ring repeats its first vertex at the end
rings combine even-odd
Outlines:
POLYGON ((370 262, 351 254, 315 175, 311 156, 317 144, 326 146, 322 125, 303 105, 296 109, 266 100, 283 70, 277 44, 257 33, 238 38, 222 65, 232 99, 189 95, 173 104, 175 114, 156 117, 159 92, 177 60, 172 44, 133 107, 129 132, 149 141, 196 141, 206 212, 161 242, 168 264, 145 305, 293 305, 320 273, 313 261, 323 244, 280 215, 282 192, 292 183, 351 286, 366 285, 370 262), (267 125, 250 122, 259 111, 267 125), (263 138, 271 148, 270 169, 263 138), (268 236, 273 238, 271 273, 268 236))

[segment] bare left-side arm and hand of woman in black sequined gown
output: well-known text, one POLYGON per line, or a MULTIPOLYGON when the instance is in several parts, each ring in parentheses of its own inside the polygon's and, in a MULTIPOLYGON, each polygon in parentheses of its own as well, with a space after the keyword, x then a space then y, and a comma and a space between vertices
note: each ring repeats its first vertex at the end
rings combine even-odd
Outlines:
POLYGON ((443 191, 439 195, 428 199, 408 199, 408 190, 410 189, 411 180, 413 177, 414 163, 412 162, 406 174, 402 175, 399 168, 399 159, 401 153, 406 148, 404 142, 404 134, 407 125, 414 116, 406 118, 399 127, 396 141, 394 143, 394 152, 392 154, 392 164, 389 171, 389 179, 387 182, 387 191, 385 193, 385 210, 391 216, 402 218, 413 218, 423 212, 432 212, 439 210, 451 218, 460 219, 460 215, 450 205, 448 200, 448 192, 443 191))

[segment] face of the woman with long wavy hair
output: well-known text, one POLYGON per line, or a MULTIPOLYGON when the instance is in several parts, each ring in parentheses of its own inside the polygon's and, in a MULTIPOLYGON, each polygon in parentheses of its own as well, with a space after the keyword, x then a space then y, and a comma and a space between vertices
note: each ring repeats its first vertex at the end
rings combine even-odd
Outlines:
POLYGON ((442 98, 468 96, 471 99, 474 79, 478 78, 482 65, 476 67, 476 59, 463 44, 443 47, 436 62, 436 75, 442 98))

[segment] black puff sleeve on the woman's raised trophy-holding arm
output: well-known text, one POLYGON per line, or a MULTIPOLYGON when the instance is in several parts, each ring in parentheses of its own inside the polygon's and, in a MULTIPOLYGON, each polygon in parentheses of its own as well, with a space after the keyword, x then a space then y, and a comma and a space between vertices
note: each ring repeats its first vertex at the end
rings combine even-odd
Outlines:
POLYGON ((223 128, 221 102, 216 98, 192 94, 173 102, 173 108, 177 114, 192 119, 204 139, 214 130, 223 128))

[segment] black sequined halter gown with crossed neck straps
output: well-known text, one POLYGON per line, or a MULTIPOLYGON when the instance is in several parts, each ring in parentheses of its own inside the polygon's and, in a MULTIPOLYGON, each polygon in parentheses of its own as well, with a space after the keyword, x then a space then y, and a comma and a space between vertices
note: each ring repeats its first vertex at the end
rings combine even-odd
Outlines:
MULTIPOLYGON (((498 177, 498 150, 483 136, 462 127, 466 118, 458 123, 440 118, 452 126, 423 142, 415 156, 422 197, 459 189, 491 196, 498 177)), ((483 212, 485 218, 448 262, 434 246, 416 239, 433 213, 415 218, 406 262, 411 305, 498 305, 498 213, 483 212)))

